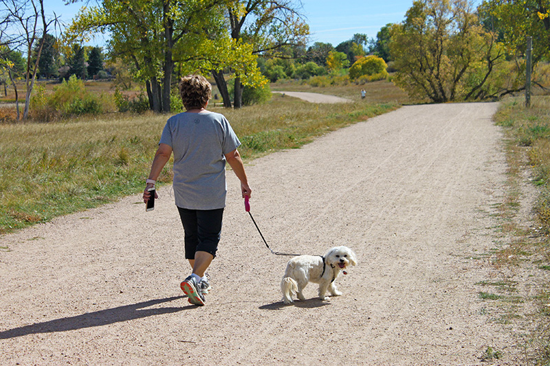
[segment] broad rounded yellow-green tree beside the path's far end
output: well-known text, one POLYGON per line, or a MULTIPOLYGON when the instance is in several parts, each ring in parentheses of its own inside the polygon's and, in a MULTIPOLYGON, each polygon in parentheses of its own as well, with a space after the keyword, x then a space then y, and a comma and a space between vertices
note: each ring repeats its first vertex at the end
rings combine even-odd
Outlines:
POLYGON ((395 84, 432 102, 490 98, 504 52, 481 27, 467 0, 418 0, 391 28, 395 84))

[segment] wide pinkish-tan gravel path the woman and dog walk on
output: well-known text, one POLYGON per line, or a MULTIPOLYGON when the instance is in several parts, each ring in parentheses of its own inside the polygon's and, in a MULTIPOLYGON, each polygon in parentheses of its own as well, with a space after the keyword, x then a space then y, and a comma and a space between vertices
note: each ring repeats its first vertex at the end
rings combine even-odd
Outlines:
POLYGON ((130 196, 2 236, 0 364, 525 364, 529 329, 479 296, 504 240, 496 108, 404 106, 248 164, 250 212, 274 251, 357 254, 328 301, 309 284, 283 306, 289 257, 263 244, 234 174, 200 308, 179 289, 170 187, 151 212, 130 196))

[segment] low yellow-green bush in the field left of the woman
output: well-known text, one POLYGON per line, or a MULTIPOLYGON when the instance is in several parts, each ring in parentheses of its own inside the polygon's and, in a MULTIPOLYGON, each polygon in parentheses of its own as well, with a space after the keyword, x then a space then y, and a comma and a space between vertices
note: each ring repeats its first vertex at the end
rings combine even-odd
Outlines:
POLYGON ((39 122, 76 115, 98 115, 113 109, 113 102, 108 95, 88 91, 84 82, 75 75, 61 82, 52 94, 47 94, 43 87, 39 87, 32 97, 31 105, 31 117, 39 122))

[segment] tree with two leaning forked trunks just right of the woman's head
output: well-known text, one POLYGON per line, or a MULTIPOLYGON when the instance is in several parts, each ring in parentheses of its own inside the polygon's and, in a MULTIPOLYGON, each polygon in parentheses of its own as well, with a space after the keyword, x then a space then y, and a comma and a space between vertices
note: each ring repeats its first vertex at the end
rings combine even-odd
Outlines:
MULTIPOLYGON (((299 4, 299 1, 298 1, 299 4)), ((254 54, 277 56, 287 45, 305 45, 309 26, 293 0, 234 0, 228 4, 231 37, 254 45, 254 54)), ((212 72, 224 106, 231 106, 223 70, 212 72)), ((241 73, 234 80, 234 108, 242 105, 241 73)))

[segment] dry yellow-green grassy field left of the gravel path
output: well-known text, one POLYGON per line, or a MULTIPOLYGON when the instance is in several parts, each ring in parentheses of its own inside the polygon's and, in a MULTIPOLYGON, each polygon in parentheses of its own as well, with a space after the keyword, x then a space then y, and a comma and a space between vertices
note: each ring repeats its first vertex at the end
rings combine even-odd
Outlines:
MULTIPOLYGON (((216 111, 228 117, 239 135, 239 151, 246 161, 297 148, 406 101, 391 83, 379 82, 377 87, 393 90, 392 98, 380 103, 357 97, 352 103, 311 104, 274 95, 265 105, 216 111)), ((105 91, 104 84, 101 89, 105 91)), ((0 124, 0 233, 140 192, 167 117, 109 113, 47 124, 0 124)), ((171 182, 169 168, 159 181, 171 182)))

